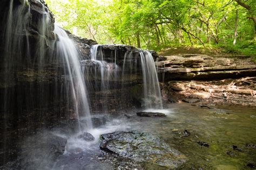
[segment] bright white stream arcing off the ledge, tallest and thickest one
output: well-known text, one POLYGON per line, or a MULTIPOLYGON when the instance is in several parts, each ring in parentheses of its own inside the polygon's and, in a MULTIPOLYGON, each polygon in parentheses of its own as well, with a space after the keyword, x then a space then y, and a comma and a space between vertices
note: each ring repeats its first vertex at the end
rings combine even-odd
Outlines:
MULTIPOLYGON (((80 123, 80 115, 85 117, 86 129, 92 128, 91 114, 87 99, 84 75, 80 65, 80 56, 73 41, 68 34, 60 27, 55 26, 54 32, 58 35, 57 55, 63 58, 69 75, 71 94, 73 97, 74 109, 80 123)), ((79 128, 81 125, 79 125, 79 128)))

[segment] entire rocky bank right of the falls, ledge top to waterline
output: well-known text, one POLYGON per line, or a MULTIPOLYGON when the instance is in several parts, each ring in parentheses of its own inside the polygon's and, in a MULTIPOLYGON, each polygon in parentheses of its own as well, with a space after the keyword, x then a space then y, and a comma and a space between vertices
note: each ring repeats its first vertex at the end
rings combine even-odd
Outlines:
POLYGON ((166 102, 256 107, 256 66, 252 62, 205 54, 159 59, 156 65, 166 102))

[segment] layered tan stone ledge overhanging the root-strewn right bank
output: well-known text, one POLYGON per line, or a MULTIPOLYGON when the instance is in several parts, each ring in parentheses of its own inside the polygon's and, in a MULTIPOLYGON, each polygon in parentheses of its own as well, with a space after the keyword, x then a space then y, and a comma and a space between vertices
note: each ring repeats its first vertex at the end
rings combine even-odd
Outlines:
POLYGON ((213 58, 201 54, 162 56, 157 62, 161 81, 214 80, 256 74, 256 66, 236 66, 233 59, 213 58))

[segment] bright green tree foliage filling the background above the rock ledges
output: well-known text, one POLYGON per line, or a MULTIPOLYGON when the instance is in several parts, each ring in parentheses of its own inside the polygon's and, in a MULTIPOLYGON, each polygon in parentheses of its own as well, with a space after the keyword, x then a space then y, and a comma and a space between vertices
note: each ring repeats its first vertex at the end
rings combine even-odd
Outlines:
POLYGON ((57 24, 104 44, 221 46, 255 55, 256 1, 240 0, 46 0, 57 24), (234 40, 238 9, 237 40, 234 40))

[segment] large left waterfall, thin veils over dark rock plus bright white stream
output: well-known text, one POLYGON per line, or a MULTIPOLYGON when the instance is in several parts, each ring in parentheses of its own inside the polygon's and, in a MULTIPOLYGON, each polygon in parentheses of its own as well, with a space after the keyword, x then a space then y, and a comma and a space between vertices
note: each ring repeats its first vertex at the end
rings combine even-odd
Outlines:
POLYGON ((59 117, 73 110, 78 119, 86 117, 78 122, 90 129, 90 108, 75 44, 58 26, 56 40, 52 15, 44 2, 31 3, 10 0, 4 12, 1 111, 6 118, 15 119, 38 109, 35 117, 41 119, 49 110, 58 110, 59 117), (59 107, 51 108, 53 105, 59 107))

